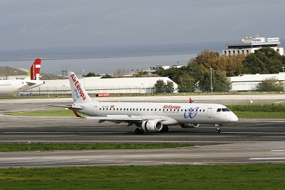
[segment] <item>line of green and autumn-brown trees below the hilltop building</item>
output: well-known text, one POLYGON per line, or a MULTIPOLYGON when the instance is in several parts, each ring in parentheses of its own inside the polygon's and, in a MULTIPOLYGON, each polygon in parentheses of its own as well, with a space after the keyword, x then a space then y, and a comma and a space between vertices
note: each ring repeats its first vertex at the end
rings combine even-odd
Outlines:
MULTIPOLYGON (((156 74, 167 76, 172 81, 175 81, 179 92, 193 92, 196 89, 200 91, 219 92, 229 91, 230 82, 227 76, 239 76, 240 74, 276 74, 283 71, 282 67, 284 65, 285 56, 281 56, 269 47, 259 49, 254 54, 237 54, 232 56, 219 56, 217 52, 204 50, 197 54, 195 58, 190 59, 187 66, 170 69, 160 68, 157 69, 156 74)), ((161 81, 157 81, 157 83, 159 84, 156 84, 156 88, 157 85, 162 86, 161 81)), ((267 82, 266 84, 270 83, 267 82)), ((274 82, 271 84, 276 86, 274 82)), ((167 86, 167 84, 164 85, 167 86)), ((279 88, 275 89, 280 89, 282 85, 277 85, 279 88)), ((166 87, 164 88, 167 89, 166 87)), ((260 89, 261 86, 259 85, 260 89)))

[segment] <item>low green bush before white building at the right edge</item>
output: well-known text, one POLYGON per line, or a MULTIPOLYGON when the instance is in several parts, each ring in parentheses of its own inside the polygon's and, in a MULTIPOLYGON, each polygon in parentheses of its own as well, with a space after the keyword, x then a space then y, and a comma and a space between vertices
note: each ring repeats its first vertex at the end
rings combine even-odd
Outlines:
POLYGON ((276 77, 266 78, 257 85, 257 91, 283 91, 284 83, 276 77))

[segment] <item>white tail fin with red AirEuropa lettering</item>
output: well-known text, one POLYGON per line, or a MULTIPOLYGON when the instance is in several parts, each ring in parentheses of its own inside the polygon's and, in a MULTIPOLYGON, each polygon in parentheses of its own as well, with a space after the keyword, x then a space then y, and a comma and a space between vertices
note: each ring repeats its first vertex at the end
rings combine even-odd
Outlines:
POLYGON ((68 72, 69 83, 71 84, 71 94, 73 102, 76 104, 85 104, 90 102, 96 102, 91 99, 84 89, 83 85, 78 80, 77 76, 73 72, 68 72))

